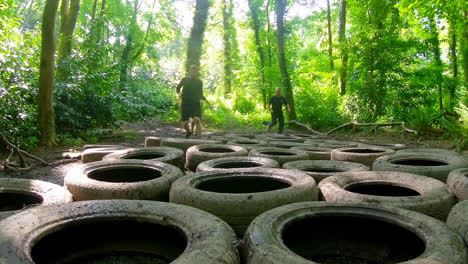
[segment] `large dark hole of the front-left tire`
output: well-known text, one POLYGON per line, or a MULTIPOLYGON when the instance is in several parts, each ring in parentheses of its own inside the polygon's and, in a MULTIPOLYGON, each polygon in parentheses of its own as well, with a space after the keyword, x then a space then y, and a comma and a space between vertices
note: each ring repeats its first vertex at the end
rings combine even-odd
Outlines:
POLYGON ((34 263, 162 264, 171 263, 187 246, 178 228, 138 219, 74 221, 62 227, 33 245, 34 263))

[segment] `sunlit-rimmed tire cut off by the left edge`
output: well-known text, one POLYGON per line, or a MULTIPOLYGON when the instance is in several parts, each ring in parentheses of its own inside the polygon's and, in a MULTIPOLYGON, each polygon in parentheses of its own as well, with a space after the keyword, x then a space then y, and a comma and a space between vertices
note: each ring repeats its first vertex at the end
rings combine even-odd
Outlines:
POLYGON ((19 178, 0 178, 0 197, 0 220, 31 206, 73 201, 71 193, 60 185, 19 178))

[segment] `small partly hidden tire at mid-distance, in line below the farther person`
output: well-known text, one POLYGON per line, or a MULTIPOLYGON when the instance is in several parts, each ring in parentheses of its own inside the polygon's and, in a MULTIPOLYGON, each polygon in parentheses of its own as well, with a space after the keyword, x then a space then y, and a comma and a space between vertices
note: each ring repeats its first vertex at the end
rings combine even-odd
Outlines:
POLYGON ((283 165, 286 162, 295 160, 307 160, 309 154, 298 149, 282 149, 282 148, 258 148, 252 149, 249 152, 249 157, 263 157, 274 159, 283 165))

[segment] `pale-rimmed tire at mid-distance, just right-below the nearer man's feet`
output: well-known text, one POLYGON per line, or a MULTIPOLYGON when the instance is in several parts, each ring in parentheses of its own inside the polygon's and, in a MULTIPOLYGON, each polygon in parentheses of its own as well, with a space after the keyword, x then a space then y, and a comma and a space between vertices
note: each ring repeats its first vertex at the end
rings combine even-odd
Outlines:
POLYGON ((221 144, 195 145, 187 149, 187 154, 185 155, 185 168, 195 171, 198 164, 206 160, 225 157, 242 157, 247 156, 248 154, 249 152, 240 146, 221 144), (219 150, 219 152, 217 150, 219 150))

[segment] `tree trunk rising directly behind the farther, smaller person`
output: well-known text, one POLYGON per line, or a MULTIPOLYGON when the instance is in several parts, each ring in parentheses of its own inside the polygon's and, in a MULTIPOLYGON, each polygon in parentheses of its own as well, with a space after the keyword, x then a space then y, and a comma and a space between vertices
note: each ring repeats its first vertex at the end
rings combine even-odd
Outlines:
POLYGON ((288 112, 289 120, 296 120, 296 110, 294 108, 294 97, 292 93, 291 80, 289 79, 288 68, 286 66, 286 54, 284 51, 284 10, 286 9, 287 0, 276 1, 276 25, 278 35, 278 61, 281 71, 281 80, 285 89, 286 100, 288 101, 291 111, 288 112))

